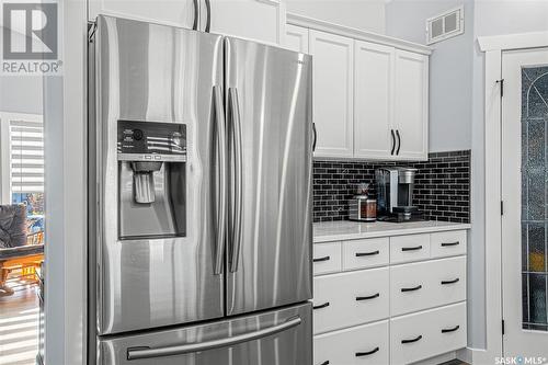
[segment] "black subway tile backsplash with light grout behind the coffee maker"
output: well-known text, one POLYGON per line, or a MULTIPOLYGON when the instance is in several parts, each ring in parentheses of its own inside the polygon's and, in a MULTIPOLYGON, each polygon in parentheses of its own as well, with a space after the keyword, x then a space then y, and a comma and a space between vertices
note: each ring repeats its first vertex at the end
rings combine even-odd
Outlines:
POLYGON ((433 152, 421 162, 315 160, 313 221, 349 219, 356 185, 375 184, 375 170, 385 166, 419 169, 414 199, 426 219, 470 221, 470 150, 433 152))

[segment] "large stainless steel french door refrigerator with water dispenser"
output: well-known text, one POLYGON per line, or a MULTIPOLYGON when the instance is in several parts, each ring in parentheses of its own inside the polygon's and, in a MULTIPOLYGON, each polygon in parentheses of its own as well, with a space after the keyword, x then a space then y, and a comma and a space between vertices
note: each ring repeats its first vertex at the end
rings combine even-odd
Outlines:
POLYGON ((89 363, 312 362, 311 58, 100 15, 89 363))

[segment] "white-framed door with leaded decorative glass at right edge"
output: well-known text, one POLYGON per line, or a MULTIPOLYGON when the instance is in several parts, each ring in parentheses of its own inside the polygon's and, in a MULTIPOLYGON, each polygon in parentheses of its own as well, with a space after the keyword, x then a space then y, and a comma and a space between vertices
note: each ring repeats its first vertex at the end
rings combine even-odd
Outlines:
POLYGON ((504 53, 505 356, 548 357, 548 49, 504 53))

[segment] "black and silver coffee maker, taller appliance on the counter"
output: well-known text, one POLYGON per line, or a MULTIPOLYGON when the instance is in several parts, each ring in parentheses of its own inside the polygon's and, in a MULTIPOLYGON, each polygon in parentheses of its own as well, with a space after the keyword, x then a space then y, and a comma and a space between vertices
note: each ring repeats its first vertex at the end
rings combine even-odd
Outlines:
POLYGON ((413 205, 416 169, 390 167, 375 171, 377 182, 378 220, 424 220, 424 214, 413 205))

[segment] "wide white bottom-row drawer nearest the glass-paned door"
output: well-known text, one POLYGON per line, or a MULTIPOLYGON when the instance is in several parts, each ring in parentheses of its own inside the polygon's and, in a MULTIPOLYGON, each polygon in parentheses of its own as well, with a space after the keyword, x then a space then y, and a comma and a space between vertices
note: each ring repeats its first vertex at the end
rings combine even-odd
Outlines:
POLYGON ((441 355, 466 343, 466 303, 390 320, 392 365, 441 355))

